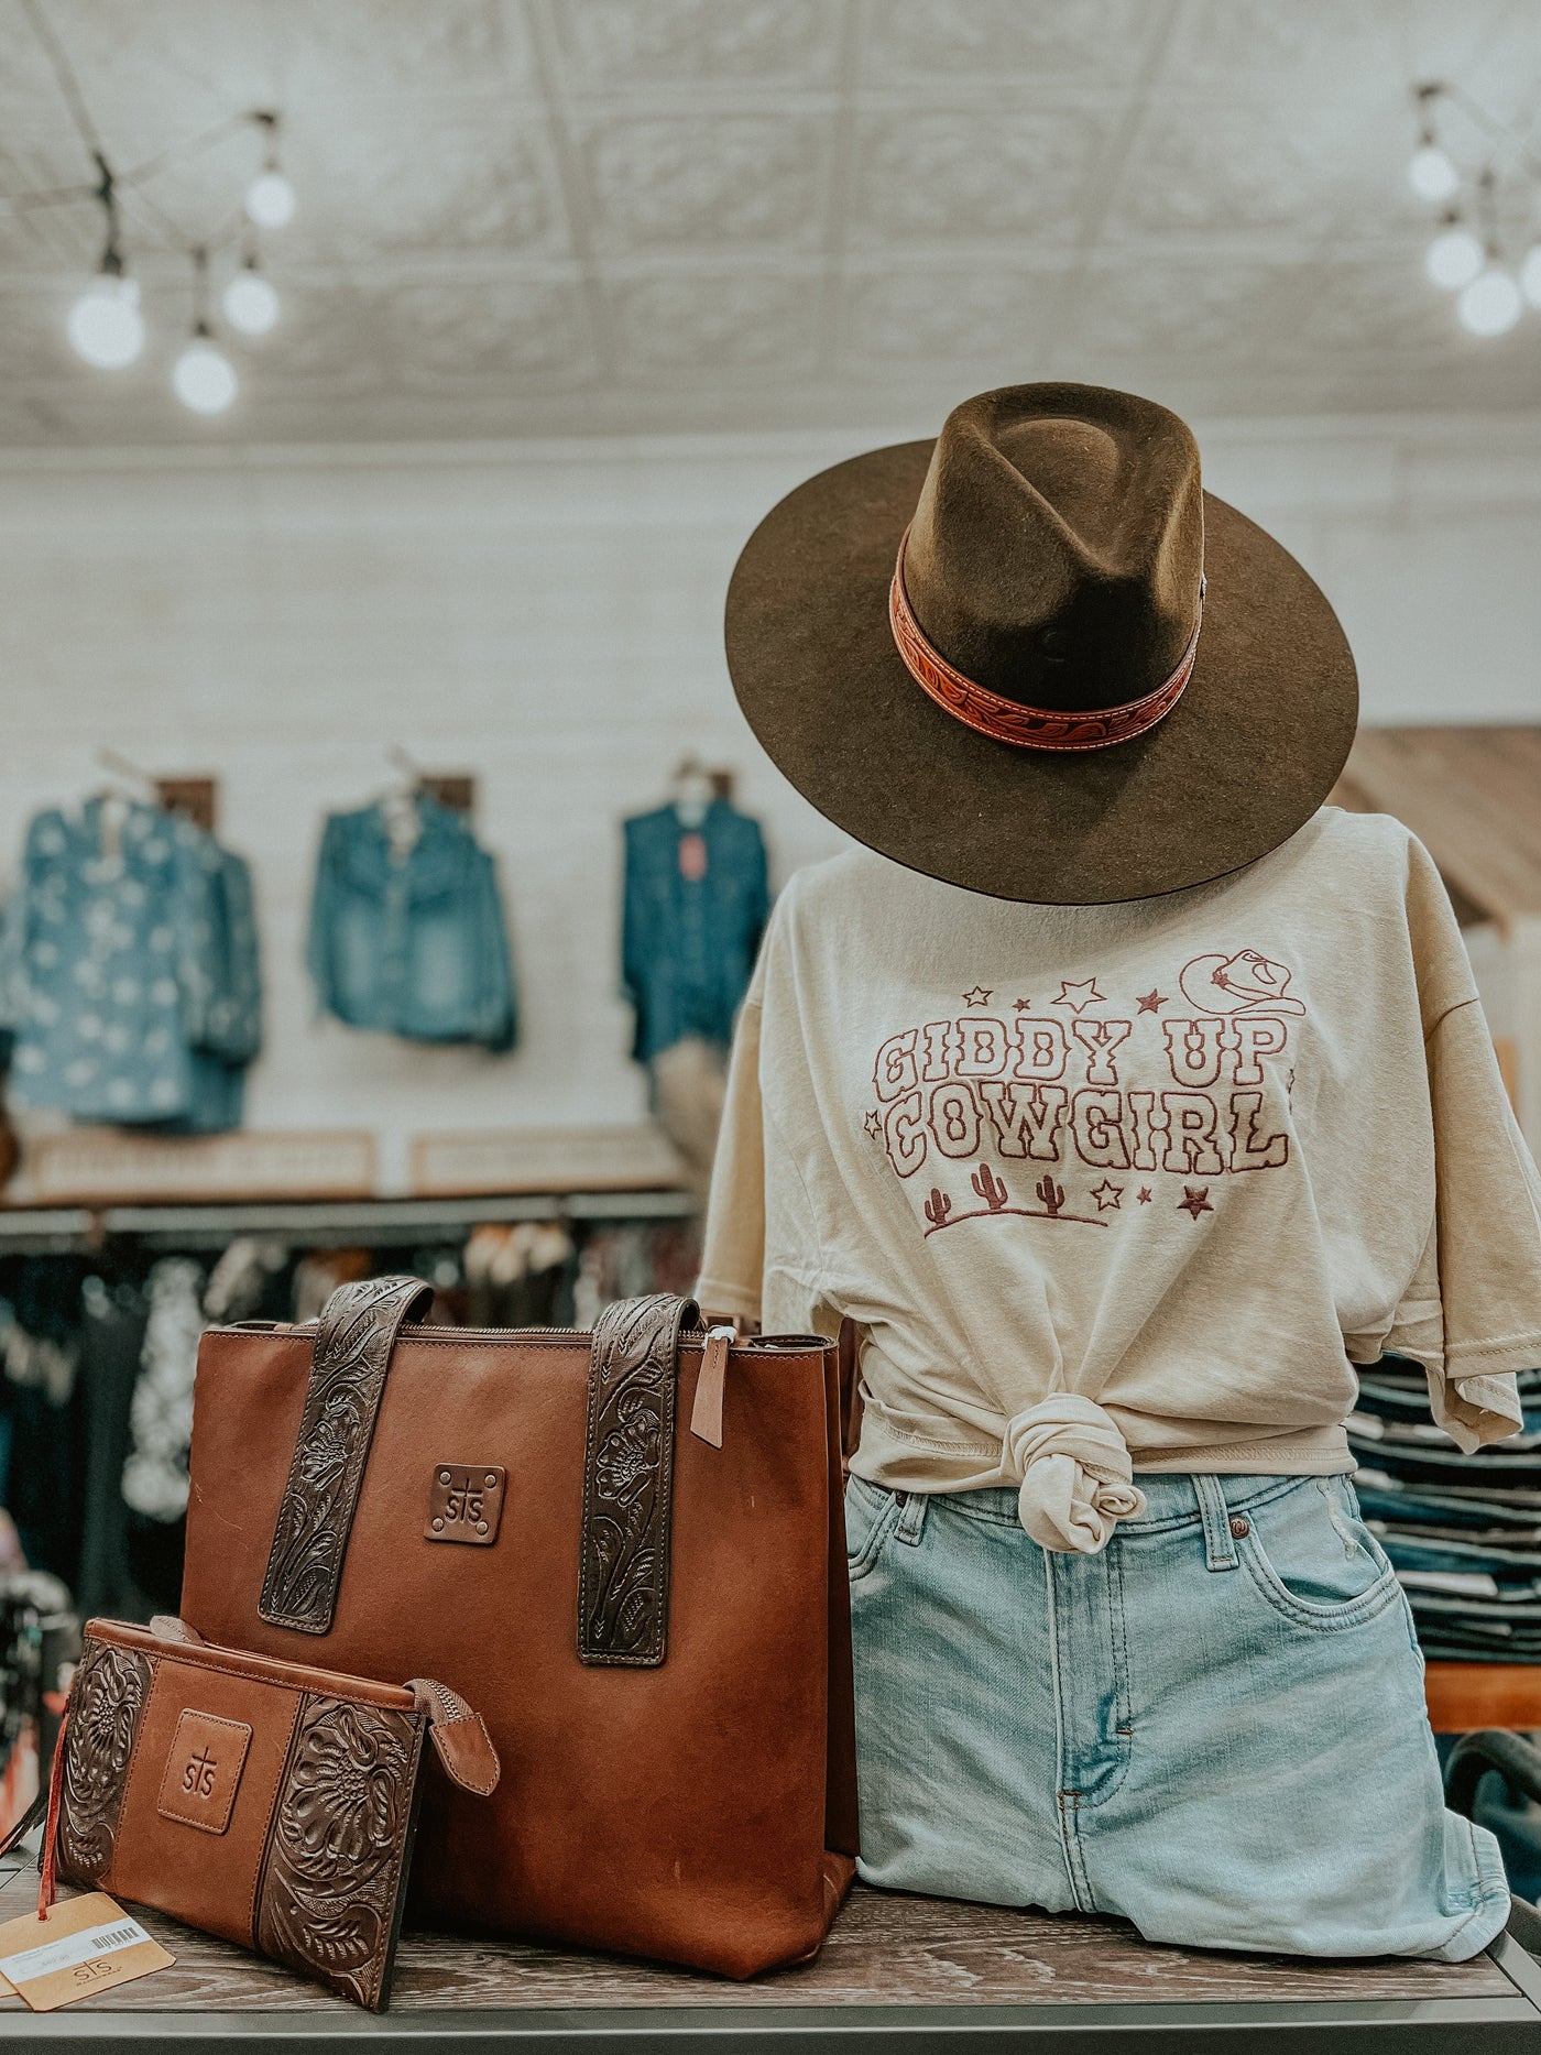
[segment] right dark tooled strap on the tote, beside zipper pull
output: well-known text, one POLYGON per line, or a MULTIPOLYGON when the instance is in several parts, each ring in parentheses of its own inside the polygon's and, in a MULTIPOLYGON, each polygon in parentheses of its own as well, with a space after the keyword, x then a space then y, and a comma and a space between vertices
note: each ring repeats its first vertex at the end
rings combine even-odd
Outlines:
POLYGON ((692 1299, 621 1299, 594 1323, 577 1658, 655 1669, 668 1652, 674 1416, 692 1299))

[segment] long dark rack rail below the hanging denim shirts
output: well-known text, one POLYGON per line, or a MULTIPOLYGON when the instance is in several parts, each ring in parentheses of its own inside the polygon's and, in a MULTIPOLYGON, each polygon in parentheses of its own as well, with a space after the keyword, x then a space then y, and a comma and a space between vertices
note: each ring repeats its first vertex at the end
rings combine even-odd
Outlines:
POLYGON ((296 1200, 212 1206, 0 1208, 0 1256, 90 1254, 109 1239, 146 1249, 218 1249, 236 1235, 271 1235, 292 1247, 399 1247, 516 1221, 684 1221, 688 1192, 520 1192, 471 1198, 296 1200))

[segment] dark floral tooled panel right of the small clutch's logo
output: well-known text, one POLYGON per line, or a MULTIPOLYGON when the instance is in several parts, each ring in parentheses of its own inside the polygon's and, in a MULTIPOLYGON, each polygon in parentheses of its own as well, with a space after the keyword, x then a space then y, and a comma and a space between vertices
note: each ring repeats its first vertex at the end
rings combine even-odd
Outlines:
POLYGON ((394 1948, 421 1714, 310 1695, 257 1891, 257 1946, 376 2010, 394 1948))

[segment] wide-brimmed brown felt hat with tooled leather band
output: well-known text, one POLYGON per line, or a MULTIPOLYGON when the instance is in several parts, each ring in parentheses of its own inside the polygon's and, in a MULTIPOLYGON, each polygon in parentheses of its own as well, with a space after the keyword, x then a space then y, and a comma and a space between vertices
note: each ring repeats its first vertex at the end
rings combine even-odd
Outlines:
POLYGON ((1354 738, 1338 616, 1200 485, 1177 415, 1081 384, 964 401, 807 479, 727 592, 727 666, 791 783, 999 898, 1147 898, 1294 834, 1354 738))

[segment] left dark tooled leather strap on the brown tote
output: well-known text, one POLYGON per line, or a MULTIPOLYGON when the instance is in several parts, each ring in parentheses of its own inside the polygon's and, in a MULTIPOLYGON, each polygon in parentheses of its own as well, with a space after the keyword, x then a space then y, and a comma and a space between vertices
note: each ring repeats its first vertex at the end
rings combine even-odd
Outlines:
POLYGON ((390 1350, 431 1297, 421 1278, 366 1278, 339 1286, 323 1309, 257 1607, 269 1628, 331 1632, 390 1350))

